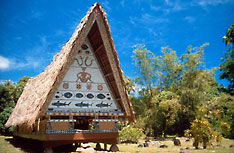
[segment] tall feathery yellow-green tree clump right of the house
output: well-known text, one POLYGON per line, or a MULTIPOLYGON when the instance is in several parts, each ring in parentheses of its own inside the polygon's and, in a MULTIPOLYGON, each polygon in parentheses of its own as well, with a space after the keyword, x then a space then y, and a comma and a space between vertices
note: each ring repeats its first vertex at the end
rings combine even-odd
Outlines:
POLYGON ((142 88, 131 98, 136 118, 145 133, 183 135, 196 118, 207 115, 204 110, 220 91, 204 63, 204 44, 189 46, 180 58, 170 48, 162 48, 155 56, 144 46, 134 50, 137 85, 142 88))

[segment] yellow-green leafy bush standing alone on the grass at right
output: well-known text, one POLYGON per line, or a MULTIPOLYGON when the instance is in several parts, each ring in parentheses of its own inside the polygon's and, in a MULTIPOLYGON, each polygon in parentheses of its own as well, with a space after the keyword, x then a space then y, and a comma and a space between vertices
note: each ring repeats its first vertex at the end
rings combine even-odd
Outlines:
POLYGON ((211 144, 215 135, 215 131, 210 127, 206 119, 192 121, 190 129, 185 130, 185 136, 194 138, 193 145, 196 149, 198 149, 199 143, 203 143, 203 148, 205 149, 207 145, 211 144))

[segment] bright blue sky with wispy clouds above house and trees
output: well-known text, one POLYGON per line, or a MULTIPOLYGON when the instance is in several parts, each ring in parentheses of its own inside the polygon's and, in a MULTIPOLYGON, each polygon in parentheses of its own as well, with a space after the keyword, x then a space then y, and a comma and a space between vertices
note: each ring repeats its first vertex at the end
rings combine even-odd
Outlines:
MULTIPOLYGON (((73 34, 95 3, 91 0, 1 0, 0 80, 36 76, 73 34)), ((234 0, 99 1, 107 13, 124 75, 137 75, 131 56, 142 44, 160 55, 168 46, 180 56, 188 47, 205 48, 208 69, 217 67, 227 46, 222 37, 234 23, 234 0)), ((219 72, 216 71, 216 74, 219 72)), ((225 83, 218 80, 219 83, 225 83)))

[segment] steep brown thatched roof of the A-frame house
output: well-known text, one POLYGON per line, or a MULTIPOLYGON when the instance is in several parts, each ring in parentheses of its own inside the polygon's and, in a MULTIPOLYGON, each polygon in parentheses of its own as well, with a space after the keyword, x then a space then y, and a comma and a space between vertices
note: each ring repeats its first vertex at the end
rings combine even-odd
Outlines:
MULTIPOLYGON (((106 53, 111 72, 113 72, 113 78, 111 79, 115 80, 113 86, 118 89, 116 90, 116 93, 121 99, 120 103, 125 113, 125 117, 129 120, 134 119, 132 106, 125 89, 123 74, 120 69, 117 53, 114 49, 105 12, 99 3, 95 3, 89 9, 86 16, 81 20, 69 41, 54 57, 51 64, 38 76, 35 76, 28 81, 13 112, 5 124, 6 127, 21 124, 32 126, 38 117, 45 113, 67 70, 74 61, 78 48, 88 36, 92 39, 90 33, 95 31, 93 28, 94 25, 98 27, 96 30, 100 31, 100 38, 103 39, 102 46, 104 47, 102 50, 103 53, 106 53)), ((94 40, 95 39, 93 39, 93 42, 94 40)), ((95 48, 95 44, 93 47, 95 48)), ((100 46, 98 48, 96 47, 96 50, 100 50, 100 46)))

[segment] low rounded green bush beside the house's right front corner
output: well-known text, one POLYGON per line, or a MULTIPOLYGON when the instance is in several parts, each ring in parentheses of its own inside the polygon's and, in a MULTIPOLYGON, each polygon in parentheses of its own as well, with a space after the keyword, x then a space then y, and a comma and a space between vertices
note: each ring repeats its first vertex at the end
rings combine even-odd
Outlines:
POLYGON ((127 125, 119 130, 120 142, 137 143, 141 137, 145 137, 144 133, 141 129, 134 127, 134 125, 127 125))

